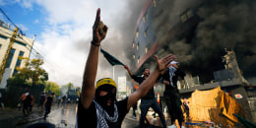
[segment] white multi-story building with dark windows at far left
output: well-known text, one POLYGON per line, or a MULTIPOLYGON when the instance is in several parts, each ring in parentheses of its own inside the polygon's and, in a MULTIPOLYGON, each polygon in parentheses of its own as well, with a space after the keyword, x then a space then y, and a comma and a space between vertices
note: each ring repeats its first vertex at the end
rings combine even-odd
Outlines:
MULTIPOLYGON (((6 55, 13 32, 14 31, 10 29, 9 25, 0 21, 0 64, 2 64, 4 56, 6 55)), ((14 74, 18 73, 16 69, 17 67, 25 66, 25 62, 21 59, 21 57, 19 58, 19 56, 30 57, 33 41, 34 37, 32 39, 20 33, 16 35, 7 60, 0 89, 5 89, 7 86, 7 80, 14 76, 14 74)))

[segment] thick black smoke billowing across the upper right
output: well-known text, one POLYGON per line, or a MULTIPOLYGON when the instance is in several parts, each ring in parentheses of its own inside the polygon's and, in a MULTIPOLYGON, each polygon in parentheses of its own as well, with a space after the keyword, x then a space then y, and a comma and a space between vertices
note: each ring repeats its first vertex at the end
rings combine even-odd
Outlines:
POLYGON ((160 24, 155 27, 160 42, 173 34, 162 30, 171 30, 185 10, 194 9, 201 20, 189 37, 168 40, 169 51, 177 55, 183 68, 208 79, 213 77, 213 71, 224 69, 224 48, 233 49, 245 78, 254 77, 256 82, 255 0, 174 0, 164 1, 160 6, 167 10, 162 12, 160 24))

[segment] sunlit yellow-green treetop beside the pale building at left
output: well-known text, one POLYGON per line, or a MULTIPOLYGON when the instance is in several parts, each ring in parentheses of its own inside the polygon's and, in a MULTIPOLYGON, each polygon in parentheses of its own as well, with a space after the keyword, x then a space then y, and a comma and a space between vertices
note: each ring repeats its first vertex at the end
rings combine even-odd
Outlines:
POLYGON ((19 59, 26 60, 26 64, 23 68, 17 67, 19 71, 16 74, 17 77, 25 79, 27 82, 32 81, 32 85, 38 85, 39 81, 44 82, 48 80, 48 74, 40 67, 43 64, 42 59, 30 60, 28 57, 19 57, 19 59))

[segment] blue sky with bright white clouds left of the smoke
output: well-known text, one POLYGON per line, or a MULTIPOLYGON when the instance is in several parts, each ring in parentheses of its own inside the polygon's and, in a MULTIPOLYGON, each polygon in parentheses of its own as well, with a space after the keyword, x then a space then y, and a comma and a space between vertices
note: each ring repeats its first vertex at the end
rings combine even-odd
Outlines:
MULTIPOLYGON (((36 34, 33 49, 43 58, 49 81, 60 86, 71 82, 81 87, 96 9, 101 9, 101 21, 109 28, 102 48, 129 64, 125 49, 131 46, 145 1, 0 0, 0 7, 27 36, 36 34)), ((6 21, 2 14, 0 18, 6 21)), ((98 70, 96 79, 113 75, 112 67, 101 54, 98 70)), ((123 67, 116 66, 115 70, 123 67)))

